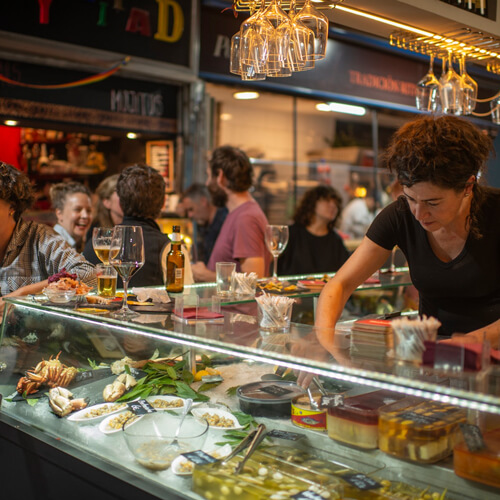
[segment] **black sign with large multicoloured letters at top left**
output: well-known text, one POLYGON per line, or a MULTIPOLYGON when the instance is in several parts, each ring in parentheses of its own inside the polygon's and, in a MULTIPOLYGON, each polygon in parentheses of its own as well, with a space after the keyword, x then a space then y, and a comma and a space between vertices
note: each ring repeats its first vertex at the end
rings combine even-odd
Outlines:
POLYGON ((0 30, 189 67, 191 0, 5 0, 0 30))

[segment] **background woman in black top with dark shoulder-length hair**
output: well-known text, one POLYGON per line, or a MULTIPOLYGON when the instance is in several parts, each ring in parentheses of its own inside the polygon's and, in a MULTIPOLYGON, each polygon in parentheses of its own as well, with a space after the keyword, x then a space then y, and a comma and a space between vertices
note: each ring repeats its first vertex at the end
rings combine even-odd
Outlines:
POLYGON ((335 224, 342 198, 330 186, 306 191, 290 226, 288 245, 278 259, 278 273, 313 274, 337 271, 349 257, 335 224))

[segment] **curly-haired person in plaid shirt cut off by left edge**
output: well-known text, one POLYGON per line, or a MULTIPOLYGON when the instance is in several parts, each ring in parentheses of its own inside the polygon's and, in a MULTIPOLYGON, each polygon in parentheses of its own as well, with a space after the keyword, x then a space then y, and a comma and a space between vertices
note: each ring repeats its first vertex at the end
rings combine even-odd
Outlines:
POLYGON ((94 266, 51 227, 21 218, 32 202, 29 179, 0 162, 0 295, 39 293, 62 268, 95 286, 94 266))

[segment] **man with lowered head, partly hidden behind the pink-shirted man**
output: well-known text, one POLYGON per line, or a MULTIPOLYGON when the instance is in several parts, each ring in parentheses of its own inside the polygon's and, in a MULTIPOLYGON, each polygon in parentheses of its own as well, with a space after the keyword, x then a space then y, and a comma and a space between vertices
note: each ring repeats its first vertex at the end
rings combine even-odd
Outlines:
POLYGON ((210 255, 219 236, 222 224, 226 220, 227 208, 216 207, 208 188, 203 184, 192 184, 182 195, 182 204, 187 216, 196 223, 197 259, 205 264, 208 263, 210 255))

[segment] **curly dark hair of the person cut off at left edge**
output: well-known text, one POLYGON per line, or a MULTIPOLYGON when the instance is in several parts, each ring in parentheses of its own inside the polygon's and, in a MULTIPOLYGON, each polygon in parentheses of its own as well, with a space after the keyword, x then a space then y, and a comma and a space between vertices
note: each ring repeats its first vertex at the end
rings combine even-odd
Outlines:
POLYGON ((17 168, 2 161, 0 161, 0 199, 14 210, 16 222, 35 200, 28 177, 17 168))

